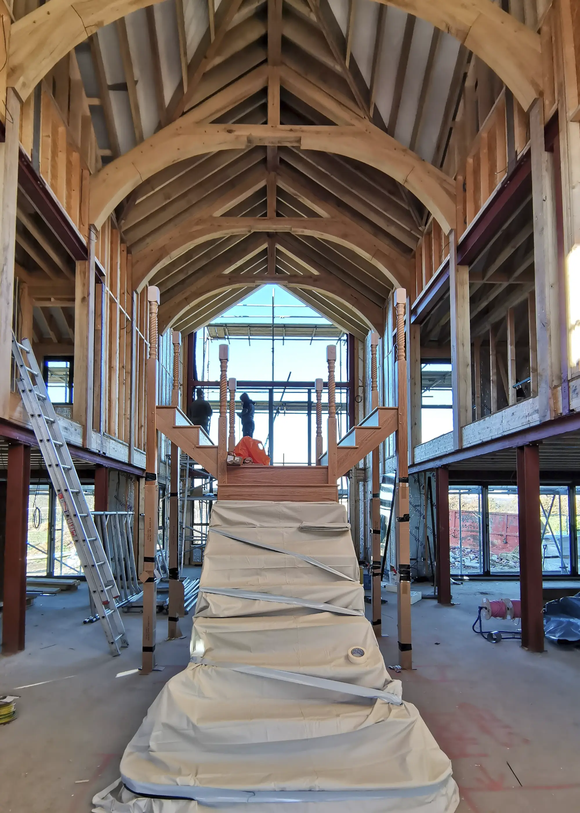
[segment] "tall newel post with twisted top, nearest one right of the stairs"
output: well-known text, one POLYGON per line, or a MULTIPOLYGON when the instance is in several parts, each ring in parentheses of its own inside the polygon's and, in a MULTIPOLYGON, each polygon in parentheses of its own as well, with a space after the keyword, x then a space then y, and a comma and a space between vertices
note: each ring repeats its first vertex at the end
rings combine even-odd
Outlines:
POLYGON ((405 355, 405 302, 404 288, 395 291, 396 306, 396 379, 398 426, 396 430, 396 457, 398 494, 396 500, 396 561, 399 572, 397 588, 397 629, 399 633, 399 659, 404 669, 413 667, 411 650, 411 565, 409 550, 409 459, 407 426, 407 360, 405 355))

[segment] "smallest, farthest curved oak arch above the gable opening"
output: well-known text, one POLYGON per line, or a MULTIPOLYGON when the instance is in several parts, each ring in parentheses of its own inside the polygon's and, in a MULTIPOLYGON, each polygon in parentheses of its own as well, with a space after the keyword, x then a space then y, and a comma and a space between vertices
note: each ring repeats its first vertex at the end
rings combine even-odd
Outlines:
POLYGON ((179 321, 187 315, 188 311, 192 310, 198 302, 201 302, 210 294, 218 294, 222 291, 234 290, 236 288, 259 288, 262 285, 269 285, 272 282, 275 282, 276 285, 283 285, 284 288, 304 288, 320 291, 321 293, 331 293, 334 297, 340 299, 342 302, 345 302, 348 307, 353 308, 361 321, 367 325, 369 330, 376 330, 380 335, 383 335, 383 309, 378 305, 374 305, 370 302, 365 302, 364 304, 348 302, 346 298, 336 293, 333 286, 327 280, 314 281, 315 278, 313 278, 312 280, 308 279, 308 281, 291 281, 293 279, 294 278, 292 277, 289 279, 284 279, 284 276, 281 276, 280 280, 272 280, 271 277, 262 276, 254 278, 249 277, 247 280, 236 278, 235 281, 227 284, 227 276, 220 274, 217 277, 204 280, 201 282, 201 285, 197 286, 196 292, 193 294, 190 301, 188 302, 186 299, 183 306, 175 306, 175 309, 172 312, 168 312, 167 309, 164 311, 163 302, 161 302, 159 307, 159 333, 165 333, 168 328, 171 328, 174 324, 179 323, 179 321), (224 282, 226 282, 226 284, 224 284, 224 282), (362 310, 363 307, 364 311, 362 310))

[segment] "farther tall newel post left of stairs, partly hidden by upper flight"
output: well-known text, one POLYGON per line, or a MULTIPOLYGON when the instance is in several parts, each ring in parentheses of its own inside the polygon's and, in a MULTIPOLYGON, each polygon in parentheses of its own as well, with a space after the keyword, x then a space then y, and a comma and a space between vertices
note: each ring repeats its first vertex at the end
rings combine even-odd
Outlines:
MULTIPOLYGON (((171 406, 180 406, 180 346, 181 333, 174 330, 173 389, 171 406)), ((180 447, 171 443, 171 485, 169 492, 169 616, 167 639, 181 637, 180 617, 184 613, 184 585, 180 581, 180 447)))

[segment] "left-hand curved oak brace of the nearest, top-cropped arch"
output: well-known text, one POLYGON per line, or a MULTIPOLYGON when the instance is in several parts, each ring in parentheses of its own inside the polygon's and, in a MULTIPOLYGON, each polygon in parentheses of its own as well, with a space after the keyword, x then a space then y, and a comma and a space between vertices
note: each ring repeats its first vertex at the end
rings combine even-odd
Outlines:
POLYGON ((162 0, 49 0, 11 27, 8 87, 23 102, 59 59, 99 28, 162 0))

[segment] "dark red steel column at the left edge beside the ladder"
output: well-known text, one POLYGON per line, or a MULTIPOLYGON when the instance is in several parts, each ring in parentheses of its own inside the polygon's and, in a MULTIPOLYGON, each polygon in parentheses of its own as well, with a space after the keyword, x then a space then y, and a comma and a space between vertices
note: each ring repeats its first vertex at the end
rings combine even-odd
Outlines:
POLYGON ((8 447, 2 654, 24 650, 30 446, 8 447))

